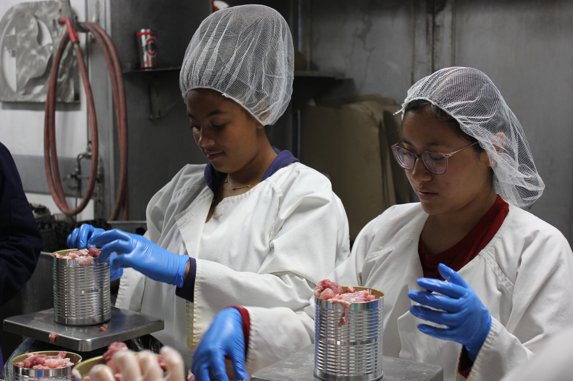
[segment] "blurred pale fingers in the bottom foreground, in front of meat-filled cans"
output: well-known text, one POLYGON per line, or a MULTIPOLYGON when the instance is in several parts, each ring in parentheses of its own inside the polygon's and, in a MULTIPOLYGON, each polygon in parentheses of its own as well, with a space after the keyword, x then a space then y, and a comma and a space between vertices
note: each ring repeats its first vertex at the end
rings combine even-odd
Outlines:
MULTIPOLYGON (((185 381, 185 364, 179 352, 170 347, 163 347, 160 354, 167 364, 167 376, 159 366, 158 356, 150 351, 119 351, 113 355, 122 381, 185 381)), ((92 381, 116 381, 110 367, 103 364, 94 366, 89 371, 92 381)))

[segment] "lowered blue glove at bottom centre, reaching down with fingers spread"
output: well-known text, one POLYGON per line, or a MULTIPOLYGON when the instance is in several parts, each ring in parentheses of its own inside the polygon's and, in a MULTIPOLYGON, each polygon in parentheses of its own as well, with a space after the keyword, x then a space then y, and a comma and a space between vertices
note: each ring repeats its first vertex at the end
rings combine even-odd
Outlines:
POLYGON ((195 350, 191 372, 195 381, 229 381, 225 368, 225 356, 229 356, 237 380, 248 380, 245 368, 245 335, 243 319, 237 308, 219 311, 209 330, 195 350), (211 375, 214 380, 211 380, 211 375))

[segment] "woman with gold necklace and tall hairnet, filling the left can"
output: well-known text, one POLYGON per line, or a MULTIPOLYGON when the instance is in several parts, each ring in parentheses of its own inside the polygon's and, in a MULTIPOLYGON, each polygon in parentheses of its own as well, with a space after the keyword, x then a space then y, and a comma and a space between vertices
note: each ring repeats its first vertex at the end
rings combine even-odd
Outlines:
POLYGON ((187 48, 180 88, 209 163, 186 165, 152 197, 144 236, 83 225, 69 237, 70 247, 101 247, 102 257, 122 253, 112 255, 116 307, 161 316, 165 329, 154 336, 188 367, 215 313, 230 305, 297 311, 348 256, 346 214, 329 180, 266 137, 291 98, 293 55, 274 9, 207 17, 187 48))

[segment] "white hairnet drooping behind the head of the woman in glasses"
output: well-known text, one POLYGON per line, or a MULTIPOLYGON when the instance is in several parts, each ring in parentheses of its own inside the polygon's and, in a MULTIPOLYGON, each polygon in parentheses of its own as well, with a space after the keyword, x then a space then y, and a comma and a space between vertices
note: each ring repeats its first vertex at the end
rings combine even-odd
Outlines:
POLYGON ((441 69, 408 90, 402 110, 417 99, 443 109, 480 142, 493 165, 494 189, 505 201, 528 209, 541 196, 545 185, 525 133, 488 76, 472 68, 441 69))

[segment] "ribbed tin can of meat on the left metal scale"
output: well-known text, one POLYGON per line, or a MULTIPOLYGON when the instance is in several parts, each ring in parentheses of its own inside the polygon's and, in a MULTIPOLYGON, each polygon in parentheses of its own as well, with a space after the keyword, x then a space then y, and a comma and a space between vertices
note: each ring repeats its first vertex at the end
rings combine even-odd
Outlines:
POLYGON ((111 319, 109 258, 94 258, 80 266, 75 259, 56 258, 71 251, 52 253, 54 322, 66 326, 91 326, 111 319))

